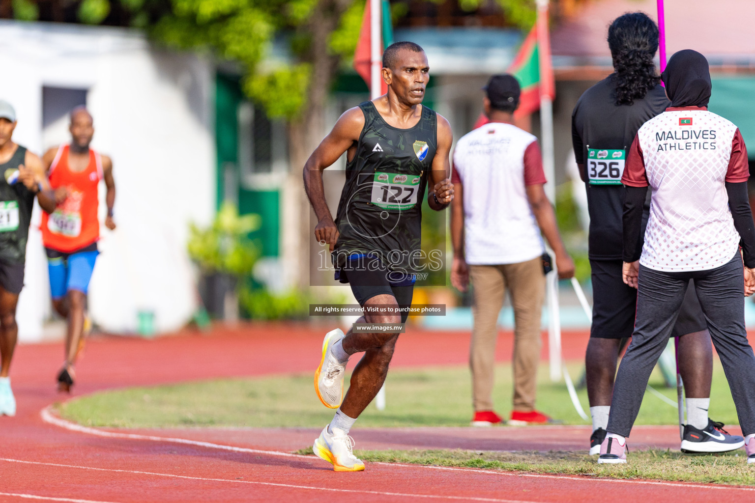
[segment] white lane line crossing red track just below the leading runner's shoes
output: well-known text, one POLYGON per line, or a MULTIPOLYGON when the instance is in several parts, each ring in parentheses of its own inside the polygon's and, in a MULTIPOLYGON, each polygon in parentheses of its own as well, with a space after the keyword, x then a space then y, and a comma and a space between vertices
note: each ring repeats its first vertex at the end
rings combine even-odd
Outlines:
MULTIPOLYGON (((311 456, 309 457, 310 459, 312 459, 311 456)), ((381 496, 402 496, 402 497, 407 497, 407 498, 453 499, 453 500, 463 500, 463 501, 493 501, 495 503, 546 503, 544 501, 525 501, 521 499, 476 498, 473 496, 413 494, 413 493, 408 493, 408 492, 368 491, 364 489, 336 489, 333 487, 298 486, 295 484, 258 482, 256 480, 214 479, 214 478, 208 478, 208 477, 191 477, 190 475, 160 474, 155 471, 123 470, 121 468, 95 468, 93 466, 81 466, 81 465, 61 465, 60 463, 26 461, 24 459, 12 459, 12 458, 0 458, 0 461, 5 461, 9 463, 22 463, 24 465, 55 466, 58 468, 78 468, 79 470, 109 471, 109 472, 116 472, 116 473, 122 473, 122 474, 152 475, 154 477, 170 477, 174 479, 185 479, 185 480, 202 480, 204 482, 230 482, 230 483, 241 483, 241 484, 254 484, 256 486, 288 487, 290 489, 310 489, 313 491, 350 492, 350 493, 356 493, 356 494, 374 494, 374 495, 381 495, 381 496)), ((60 500, 60 501, 83 501, 87 503, 86 500, 60 500)), ((97 501, 93 503, 107 503, 107 502, 97 501)))

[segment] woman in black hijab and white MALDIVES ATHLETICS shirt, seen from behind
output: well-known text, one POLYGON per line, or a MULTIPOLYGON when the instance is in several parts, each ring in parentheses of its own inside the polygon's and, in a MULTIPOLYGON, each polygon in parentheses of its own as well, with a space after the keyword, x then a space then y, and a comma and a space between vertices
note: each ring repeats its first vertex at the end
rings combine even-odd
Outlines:
POLYGON ((745 438, 726 434, 721 423, 709 421, 702 430, 686 425, 682 451, 695 451, 700 442, 718 452, 744 445, 747 462, 755 463, 755 355, 742 302, 743 291, 755 293, 747 149, 735 124, 707 110, 710 72, 702 54, 674 54, 662 79, 672 106, 639 128, 621 178, 627 187, 623 276, 638 289, 637 310, 598 462, 627 462, 626 437, 694 280, 745 438), (649 186, 650 216, 640 250, 649 186))

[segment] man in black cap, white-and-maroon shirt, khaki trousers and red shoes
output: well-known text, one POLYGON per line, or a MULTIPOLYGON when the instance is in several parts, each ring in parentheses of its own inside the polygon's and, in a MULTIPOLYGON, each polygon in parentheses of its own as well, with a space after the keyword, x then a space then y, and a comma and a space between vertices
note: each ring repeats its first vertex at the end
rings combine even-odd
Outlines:
POLYGON ((488 124, 456 144, 455 200, 451 204, 454 260, 451 284, 466 291, 473 284, 472 425, 501 422, 493 410, 498 314, 509 291, 514 310, 513 410, 510 424, 553 422, 535 409, 540 362, 541 311, 545 297, 541 232, 556 253, 560 278, 572 278, 574 262, 561 241, 535 136, 513 125, 519 82, 493 75, 485 86, 488 124))

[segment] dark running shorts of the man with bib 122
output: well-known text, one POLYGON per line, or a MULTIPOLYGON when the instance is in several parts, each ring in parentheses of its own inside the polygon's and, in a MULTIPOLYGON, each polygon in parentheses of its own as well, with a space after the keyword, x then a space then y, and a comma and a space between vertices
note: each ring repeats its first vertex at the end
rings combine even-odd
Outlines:
MULTIPOLYGON (((396 299, 399 307, 409 307, 411 297, 414 295, 414 283, 403 281, 400 284, 389 281, 390 273, 381 264, 380 259, 368 257, 365 261, 347 261, 347 265, 337 273, 337 280, 348 283, 359 305, 365 303, 374 296, 391 295, 396 299), (359 265, 357 265, 359 264, 359 265), (365 265, 369 265, 366 266, 365 265)), ((408 312, 402 312, 401 323, 406 323, 408 312)))

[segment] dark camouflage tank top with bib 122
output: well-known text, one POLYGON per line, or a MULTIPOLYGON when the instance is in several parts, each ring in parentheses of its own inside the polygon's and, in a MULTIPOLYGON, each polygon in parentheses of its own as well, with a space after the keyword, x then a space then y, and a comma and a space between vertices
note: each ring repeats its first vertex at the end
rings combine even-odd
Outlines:
POLYGON ((391 271, 411 272, 421 245, 422 200, 437 148, 437 117, 422 107, 414 127, 399 129, 371 101, 359 105, 365 126, 346 165, 335 223, 340 237, 331 256, 336 269, 347 257, 374 254, 391 271))

